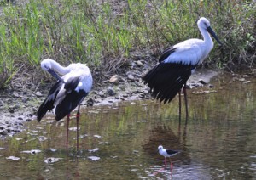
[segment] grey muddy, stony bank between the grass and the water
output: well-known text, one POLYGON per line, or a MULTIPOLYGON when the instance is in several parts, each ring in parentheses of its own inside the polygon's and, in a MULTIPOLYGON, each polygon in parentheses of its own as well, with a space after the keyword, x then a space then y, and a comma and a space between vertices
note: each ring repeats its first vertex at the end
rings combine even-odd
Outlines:
MULTIPOLYGON (((145 62, 137 61, 132 63, 129 70, 119 74, 101 75, 102 79, 94 82, 92 91, 84 99, 81 107, 151 98, 148 94, 149 88, 141 80, 143 72, 149 68, 150 65, 146 65, 145 62)), ((216 71, 197 70, 190 77, 188 86, 211 88, 210 79, 216 75, 218 75, 216 71)), ((11 88, 0 93, 0 136, 2 137, 26 129, 24 126, 26 121, 36 121, 38 107, 47 96, 49 88, 55 83, 55 79, 44 82, 38 87, 32 82, 26 82, 25 85, 19 81, 14 82, 11 88)))

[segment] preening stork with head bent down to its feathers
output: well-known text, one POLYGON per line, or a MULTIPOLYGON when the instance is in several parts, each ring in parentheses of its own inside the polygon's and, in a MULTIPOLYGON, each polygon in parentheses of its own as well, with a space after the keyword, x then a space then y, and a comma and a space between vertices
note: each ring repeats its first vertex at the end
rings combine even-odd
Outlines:
POLYGON ((92 87, 92 76, 89 68, 84 64, 71 64, 61 66, 53 59, 44 59, 41 62, 43 70, 48 71, 58 79, 50 88, 47 98, 38 109, 38 121, 44 117, 47 111, 53 110, 55 120, 60 121, 67 115, 67 142, 70 113, 78 106, 77 120, 77 150, 79 150, 79 115, 80 104, 92 87), (55 71, 63 75, 60 77, 55 71))

